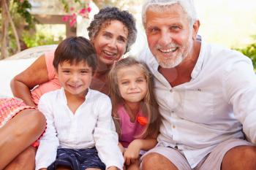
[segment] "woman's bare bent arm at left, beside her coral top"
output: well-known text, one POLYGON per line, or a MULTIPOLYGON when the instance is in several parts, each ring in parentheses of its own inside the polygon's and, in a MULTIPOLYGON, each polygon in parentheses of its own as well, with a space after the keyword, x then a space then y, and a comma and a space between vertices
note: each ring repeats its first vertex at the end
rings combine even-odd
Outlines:
POLYGON ((45 55, 37 58, 26 70, 16 75, 11 81, 12 93, 15 97, 23 99, 29 106, 34 106, 30 90, 44 82, 48 82, 48 69, 45 55))

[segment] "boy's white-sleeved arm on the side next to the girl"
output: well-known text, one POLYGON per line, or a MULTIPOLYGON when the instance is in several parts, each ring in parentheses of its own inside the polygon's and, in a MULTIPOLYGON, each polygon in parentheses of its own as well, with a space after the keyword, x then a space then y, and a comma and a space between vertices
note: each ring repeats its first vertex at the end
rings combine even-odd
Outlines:
POLYGON ((118 135, 114 131, 110 98, 107 96, 100 98, 96 108, 99 114, 94 128, 94 140, 99 158, 105 163, 107 169, 111 166, 123 169, 124 158, 118 148, 118 135))

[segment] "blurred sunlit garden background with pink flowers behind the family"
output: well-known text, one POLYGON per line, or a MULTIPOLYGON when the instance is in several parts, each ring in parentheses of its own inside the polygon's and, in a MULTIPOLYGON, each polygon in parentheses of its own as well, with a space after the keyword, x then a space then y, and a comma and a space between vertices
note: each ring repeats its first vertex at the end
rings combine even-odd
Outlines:
MULTIPOLYGON (((203 39, 239 50, 256 64, 256 1, 194 1, 203 39)), ((27 48, 56 45, 67 36, 87 36, 86 28, 94 14, 105 6, 116 6, 135 15, 138 39, 128 55, 138 55, 146 45, 140 15, 142 3, 138 0, 0 0, 0 59, 27 48)))

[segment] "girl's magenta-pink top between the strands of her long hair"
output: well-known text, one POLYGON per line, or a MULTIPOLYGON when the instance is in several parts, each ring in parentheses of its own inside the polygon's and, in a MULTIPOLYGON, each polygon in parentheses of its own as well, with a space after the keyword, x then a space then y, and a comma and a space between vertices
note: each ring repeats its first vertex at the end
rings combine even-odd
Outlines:
POLYGON ((118 116, 121 123, 121 136, 119 138, 119 142, 121 142, 123 147, 128 147, 129 143, 134 139, 142 139, 140 134, 143 133, 146 125, 140 125, 137 119, 138 116, 143 116, 142 111, 138 112, 134 123, 130 121, 129 115, 124 109, 124 106, 120 106, 118 108, 118 116))

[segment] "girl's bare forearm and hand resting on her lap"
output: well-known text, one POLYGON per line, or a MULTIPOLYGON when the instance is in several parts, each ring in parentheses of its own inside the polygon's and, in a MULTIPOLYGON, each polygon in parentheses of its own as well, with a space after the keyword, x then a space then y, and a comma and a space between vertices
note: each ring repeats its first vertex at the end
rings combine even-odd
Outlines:
POLYGON ((140 150, 150 150, 157 144, 157 139, 135 139, 133 140, 127 150, 124 152, 124 161, 127 166, 131 163, 135 163, 135 160, 139 158, 140 150))

